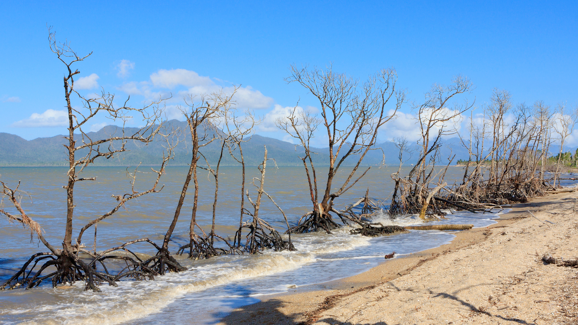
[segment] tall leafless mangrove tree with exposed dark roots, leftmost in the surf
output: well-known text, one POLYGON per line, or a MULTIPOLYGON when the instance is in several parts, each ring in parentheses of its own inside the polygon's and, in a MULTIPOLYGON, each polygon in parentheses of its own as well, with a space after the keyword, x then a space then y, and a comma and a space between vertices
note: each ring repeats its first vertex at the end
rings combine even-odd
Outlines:
POLYGON ((63 79, 66 109, 68 110, 68 136, 65 137, 65 139, 68 140, 68 145, 66 145, 65 148, 68 152, 69 169, 66 172, 66 175, 68 176, 66 186, 63 186, 66 190, 66 222, 64 227, 64 238, 62 240, 62 249, 56 249, 50 245, 50 243, 47 242, 43 237, 41 228, 38 223, 30 219, 24 212, 24 209, 20 205, 21 195, 24 194, 24 192, 18 189, 20 184, 18 184, 18 187, 16 187, 15 190, 12 190, 5 183, 2 183, 3 197, 8 197, 8 201, 10 201, 14 207, 16 207, 20 215, 16 216, 6 212, 2 209, 3 206, 0 206, 0 213, 8 216, 11 220, 24 224, 24 226, 28 227, 31 231, 36 232, 36 235, 40 241, 42 241, 44 245, 50 250, 50 253, 34 254, 27 261, 27 263, 24 264, 23 268, 21 268, 20 271, 16 273, 16 275, 14 275, 2 286, 0 286, 0 288, 3 289, 5 287, 9 287, 10 289, 14 289, 15 287, 23 285, 25 285, 27 288, 32 288, 34 286, 39 286, 40 283, 42 283, 45 279, 51 279, 52 285, 54 287, 61 283, 73 283, 77 280, 84 280, 86 283, 86 290, 90 289, 99 291, 99 283, 108 282, 109 285, 117 286, 116 281, 125 276, 131 276, 135 279, 142 279, 146 277, 152 278, 154 275, 158 274, 154 271, 154 269, 148 266, 152 260, 135 261, 131 257, 105 256, 106 253, 114 252, 118 249, 125 249, 125 246, 132 245, 133 243, 137 242, 146 241, 151 245, 158 247, 155 243, 149 241, 149 239, 137 239, 136 241, 123 244, 122 247, 111 248, 105 250, 105 253, 99 254, 96 252, 96 235, 94 253, 90 250, 84 249, 84 245, 81 245, 81 237, 84 231, 86 231, 91 226, 95 226, 99 221, 112 216, 117 212, 118 209, 124 206, 127 201, 149 193, 157 193, 158 191, 162 190, 162 187, 161 189, 157 189, 157 185, 161 175, 164 173, 166 162, 172 158, 172 150, 174 147, 170 145, 165 147, 166 156, 163 156, 161 168, 158 171, 155 171, 153 168, 151 168, 154 173, 157 173, 157 179, 149 190, 140 192, 136 191, 136 169, 134 173, 128 173, 129 177, 131 178, 131 191, 124 195, 112 195, 112 197, 116 198, 116 206, 114 206, 114 208, 109 212, 103 213, 101 216, 90 221, 84 227, 82 227, 79 231, 76 242, 73 243, 72 232, 73 220, 75 217, 74 209, 77 204, 74 197, 74 187, 76 182, 95 180, 95 178, 81 178, 79 177, 79 174, 84 170, 84 168, 92 164, 99 157, 111 158, 117 156, 119 153, 127 151, 125 148, 127 141, 149 143, 155 140, 155 136, 161 136, 166 139, 168 135, 163 135, 160 133, 162 128, 162 121, 161 123, 157 124, 157 122, 160 121, 161 115, 161 112, 158 109, 158 104, 164 101, 164 99, 154 101, 151 104, 144 106, 142 109, 135 109, 127 106, 127 102, 125 102, 124 106, 120 108, 116 107, 114 104, 114 95, 109 93, 103 92, 97 98, 85 98, 74 89, 75 76, 80 72, 78 70, 73 71, 71 66, 75 64, 75 62, 83 61, 88 56, 90 56, 90 54, 84 57, 79 57, 75 51, 71 49, 68 42, 57 43, 55 40, 55 34, 54 32, 50 31, 50 28, 49 42, 50 49, 54 54, 56 54, 58 60, 66 65, 66 70, 68 72, 65 74, 63 79), (71 97, 76 95, 78 96, 76 100, 80 102, 80 106, 73 104, 72 102, 71 97), (154 112, 149 112, 149 108, 154 112), (123 122, 126 122, 129 117, 132 117, 132 115, 136 113, 142 116, 146 126, 141 128, 138 132, 129 135, 124 133, 123 127, 121 128, 120 135, 110 135, 105 139, 91 139, 90 136, 83 131, 83 127, 84 125, 90 125, 90 120, 92 117, 101 115, 101 113, 104 113, 106 117, 110 119, 120 120, 123 122), (128 113, 131 113, 131 116, 129 116, 128 113), (75 132, 78 132, 78 134, 75 132), (79 253, 86 253, 88 256, 94 259, 87 264, 80 258, 79 253), (47 258, 49 260, 42 262, 43 264, 41 264, 42 266, 38 269, 38 271, 35 271, 35 273, 32 274, 32 269, 34 269, 36 264, 47 258), (127 267, 118 272, 116 275, 111 274, 104 266, 105 262, 108 263, 109 259, 123 260, 126 262, 127 267), (34 260, 35 263, 27 274, 26 271, 28 265, 34 260), (103 270, 105 272, 97 272, 96 263, 103 265, 103 270), (46 270, 46 268, 50 266, 56 267, 56 271, 48 275, 43 275, 43 272, 46 270))

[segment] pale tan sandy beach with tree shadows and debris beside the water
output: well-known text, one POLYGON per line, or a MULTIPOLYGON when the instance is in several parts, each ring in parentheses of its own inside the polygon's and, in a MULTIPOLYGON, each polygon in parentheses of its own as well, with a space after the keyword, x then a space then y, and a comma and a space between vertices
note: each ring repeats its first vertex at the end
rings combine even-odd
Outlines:
POLYGON ((331 290, 269 297, 218 324, 578 324, 578 269, 542 261, 547 252, 578 256, 577 197, 518 204, 447 245, 329 282, 331 290))

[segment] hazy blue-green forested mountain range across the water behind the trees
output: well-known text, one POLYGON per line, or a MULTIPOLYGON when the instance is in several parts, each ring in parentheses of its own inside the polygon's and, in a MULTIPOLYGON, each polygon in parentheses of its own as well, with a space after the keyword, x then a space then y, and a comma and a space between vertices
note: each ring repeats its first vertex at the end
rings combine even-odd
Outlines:
MULTIPOLYGON (((169 124, 171 128, 181 128, 186 130, 187 124, 171 120, 169 124)), ((137 132, 138 128, 125 128, 125 132, 137 132)), ((88 132, 91 139, 104 139, 111 135, 120 135, 121 128, 114 125, 103 127, 98 132, 88 132)), ((182 133, 182 139, 175 149, 175 159, 170 162, 171 165, 187 165, 191 161, 191 145, 190 133, 185 131, 182 133), (187 136, 188 135, 188 136, 187 136)), ((20 136, 0 132, 0 167, 49 167, 49 166, 66 166, 65 143, 66 139, 63 135, 53 136, 51 138, 37 138, 27 141, 20 136)), ((81 141, 80 135, 76 137, 77 141, 81 141)), ((165 150, 164 142, 159 139, 145 145, 140 142, 130 141, 127 144, 128 152, 120 153, 118 156, 110 159, 99 158, 96 160, 97 166, 129 166, 138 165, 158 165, 160 164, 162 152, 165 150)), ((267 146, 268 157, 274 158, 277 165, 291 166, 302 165, 303 162, 298 158, 302 156, 303 148, 296 147, 292 143, 280 141, 265 136, 253 135, 248 142, 243 143, 243 154, 247 165, 258 165, 263 159, 264 149, 267 146)), ((118 143, 114 146, 118 147, 118 143)), ((220 154, 220 144, 217 141, 210 143, 208 146, 202 148, 202 153, 208 158, 210 162, 216 162, 220 154)), ((398 153, 399 150, 392 142, 384 142, 376 146, 378 150, 370 150, 365 156, 363 165, 379 165, 383 156, 385 156, 386 165, 399 165, 398 153), (381 150, 379 150, 380 148, 381 150), (383 150, 383 151, 382 151, 383 150)), ((455 161, 460 158, 468 157, 467 151, 459 145, 458 139, 449 139, 446 145, 443 146, 441 156, 443 162, 447 163, 446 156, 449 156, 450 150, 456 153, 455 161)), ((313 155, 313 161, 317 165, 328 165, 329 151, 325 149, 314 149, 316 154, 313 155)), ((81 153, 79 153, 81 154, 81 153)), ((403 160, 405 165, 415 162, 417 153, 413 155, 405 153, 403 160), (410 158, 411 156, 411 158, 410 158), (408 160, 409 158, 409 160, 408 160)), ((344 164, 353 165, 357 162, 357 156, 350 157, 344 164)), ((443 163, 442 162, 442 163, 443 163)), ((201 161, 199 161, 199 165, 201 161)), ((233 158, 231 158, 225 149, 222 165, 238 165, 233 158)))

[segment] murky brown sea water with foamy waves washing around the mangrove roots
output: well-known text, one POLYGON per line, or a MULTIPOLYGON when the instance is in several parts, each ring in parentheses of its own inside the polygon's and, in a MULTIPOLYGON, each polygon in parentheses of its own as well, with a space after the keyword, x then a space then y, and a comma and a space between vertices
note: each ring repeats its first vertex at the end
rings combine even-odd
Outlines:
MULTIPOLYGON (((145 168, 141 168, 145 171, 145 168)), ((130 201, 126 209, 98 223, 97 250, 110 248, 136 238, 150 238, 162 242, 166 227, 172 220, 176 201, 183 184, 186 167, 168 168, 161 179, 165 184, 160 193, 149 194, 130 201)), ((397 168, 372 168, 365 178, 346 195, 336 199, 338 208, 351 204, 364 196, 383 200, 391 197, 390 175, 397 168)), ((4 182, 21 181, 21 189, 31 199, 23 201, 28 215, 40 223, 46 238, 53 245, 60 245, 64 226, 66 197, 62 184, 66 180, 65 168, 1 168, 4 182)), ((239 224, 240 168, 223 167, 220 175, 219 201, 216 231, 231 237, 239 224), (236 226, 235 226, 236 225, 236 226)), ((453 167, 446 176, 459 178, 460 167, 453 167)), ((97 181, 77 185, 75 230, 88 221, 102 215, 114 206, 113 195, 127 193, 131 184, 124 168, 91 168, 86 176, 97 176, 97 181)), ((290 223, 310 210, 307 202, 308 186, 302 168, 279 167, 268 169, 265 190, 286 212, 290 223)), ((146 190, 154 174, 139 175, 136 189, 146 190)), ((255 167, 247 167, 247 179, 258 176, 255 167), (253 170, 255 169, 255 170, 253 170)), ((334 187, 339 187, 343 173, 334 187)), ((320 184, 323 184, 323 176, 320 184)), ((253 184, 247 182, 250 195, 255 195, 253 184)), ((207 231, 212 220, 212 176, 199 175, 201 195, 197 221, 207 231)), ((258 184, 258 182, 257 182, 258 184)), ((191 195, 191 193, 189 193, 191 195)), ((189 197, 190 198, 190 197, 189 197)), ((190 204, 188 200, 171 242, 171 252, 187 243, 190 204)), ((248 206, 246 206, 248 208, 248 206)), ((429 221, 428 224, 474 224, 486 227, 496 221, 499 213, 469 213, 450 211, 446 219, 429 221)), ((271 202, 264 201, 260 216, 283 231, 285 221, 271 202)), ((245 216, 245 218, 247 218, 245 216)), ((390 219, 379 215, 375 219, 386 225, 409 226, 423 224, 416 216, 390 219)), ((42 243, 30 240, 29 232, 17 224, 5 224, 0 228, 0 279, 8 279, 27 258, 36 252, 44 252, 42 243)), ((75 232, 77 234, 77 232, 75 232)), ((42 285, 32 290, 0 291, 0 324, 210 324, 223 317, 232 308, 257 302, 259 297, 283 293, 295 288, 318 289, 324 282, 359 274, 379 263, 384 254, 393 251, 403 256, 449 243, 455 236, 444 231, 412 230, 409 233, 386 235, 376 238, 350 235, 349 228, 333 231, 333 234, 292 235, 297 248, 294 252, 221 256, 208 260, 191 261, 177 256, 188 271, 157 276, 155 280, 118 282, 118 287, 102 285, 101 293, 83 291, 84 284, 77 282, 69 289, 53 289, 42 285)), ((94 243, 94 230, 89 228, 83 236, 87 246, 94 243)), ((146 245, 134 246, 132 250, 154 253, 146 245)))

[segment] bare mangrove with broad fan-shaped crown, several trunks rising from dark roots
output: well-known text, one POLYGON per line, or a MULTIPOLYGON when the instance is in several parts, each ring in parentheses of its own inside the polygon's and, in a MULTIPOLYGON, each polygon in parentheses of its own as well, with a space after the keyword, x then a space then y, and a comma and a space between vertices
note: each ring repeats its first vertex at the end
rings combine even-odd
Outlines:
MULTIPOLYGON (((333 220, 331 212, 336 213, 343 223, 347 223, 344 219, 347 216, 334 211, 335 198, 349 190, 361 178, 351 182, 365 154, 375 149, 372 146, 376 143, 379 128, 391 120, 405 102, 405 91, 395 90, 397 74, 393 69, 383 69, 364 84, 358 85, 357 80, 333 72, 331 66, 327 69, 300 69, 292 66, 291 76, 287 77, 286 81, 301 84, 317 97, 321 106, 321 119, 305 111, 298 112, 298 106, 295 106, 290 116, 276 121, 282 130, 297 139, 299 145, 305 149, 305 155, 299 158, 305 167, 313 203, 312 212, 304 215, 301 218, 303 222, 300 220, 298 226, 290 231, 303 233, 324 230, 331 233, 331 230, 340 227, 333 220), (392 97, 397 101, 395 110, 391 115, 387 115, 385 108, 392 97), (310 147, 314 132, 320 125, 323 125, 323 133, 327 132, 329 147, 329 170, 321 202, 318 201, 316 171, 311 156, 314 153, 310 147), (351 156, 358 157, 357 163, 342 186, 335 193, 331 193, 335 175, 347 157, 351 156), (313 172, 313 180, 310 178, 307 160, 313 172)), ((366 172, 362 173, 362 176, 366 172)))

